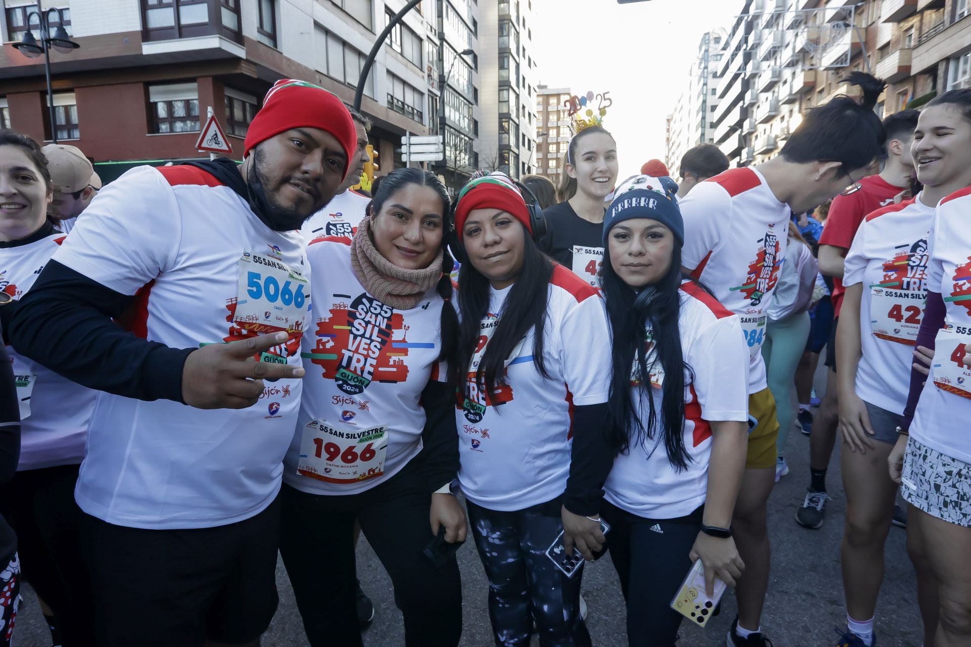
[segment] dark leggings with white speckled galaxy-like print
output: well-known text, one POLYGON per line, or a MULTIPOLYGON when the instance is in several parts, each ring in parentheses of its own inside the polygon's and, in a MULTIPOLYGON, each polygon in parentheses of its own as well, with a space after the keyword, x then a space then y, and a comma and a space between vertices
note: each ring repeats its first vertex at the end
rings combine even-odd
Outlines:
POLYGON ((466 506, 488 578, 495 644, 525 647, 535 620, 542 647, 589 647, 590 634, 580 615, 584 571, 569 578, 546 555, 563 530, 559 514, 552 516, 540 505, 514 512, 489 510, 472 501, 466 506))

